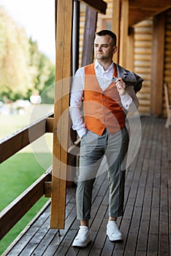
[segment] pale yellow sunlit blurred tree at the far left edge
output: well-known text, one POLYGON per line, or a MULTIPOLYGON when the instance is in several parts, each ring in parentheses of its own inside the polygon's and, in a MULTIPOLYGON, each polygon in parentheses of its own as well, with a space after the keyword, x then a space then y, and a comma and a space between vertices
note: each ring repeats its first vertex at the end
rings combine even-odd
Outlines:
POLYGON ((29 44, 26 32, 0 7, 0 87, 4 93, 26 94, 31 86, 28 72, 29 44))

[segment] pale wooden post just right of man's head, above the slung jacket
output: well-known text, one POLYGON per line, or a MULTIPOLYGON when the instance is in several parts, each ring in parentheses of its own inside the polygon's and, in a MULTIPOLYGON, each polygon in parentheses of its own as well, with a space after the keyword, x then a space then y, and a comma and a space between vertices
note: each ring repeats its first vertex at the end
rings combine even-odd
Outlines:
POLYGON ((121 1, 121 27, 120 27, 120 45, 119 47, 119 64, 127 67, 128 49, 128 32, 129 32, 129 0, 121 1))

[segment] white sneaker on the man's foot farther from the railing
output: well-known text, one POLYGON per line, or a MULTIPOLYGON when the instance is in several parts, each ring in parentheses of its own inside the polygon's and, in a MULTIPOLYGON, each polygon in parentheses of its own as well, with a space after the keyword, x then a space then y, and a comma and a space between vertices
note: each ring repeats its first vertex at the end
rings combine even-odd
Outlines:
POLYGON ((121 241, 123 240, 121 231, 118 229, 118 225, 115 221, 109 221, 107 223, 107 236, 109 236, 110 241, 121 241))

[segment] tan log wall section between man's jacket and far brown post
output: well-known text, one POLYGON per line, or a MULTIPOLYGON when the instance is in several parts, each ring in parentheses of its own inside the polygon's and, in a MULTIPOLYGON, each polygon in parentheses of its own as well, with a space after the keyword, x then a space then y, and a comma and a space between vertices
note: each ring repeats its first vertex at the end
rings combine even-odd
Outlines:
POLYGON ((134 72, 144 79, 142 90, 137 93, 142 114, 151 113, 152 37, 153 20, 143 20, 134 26, 134 72))

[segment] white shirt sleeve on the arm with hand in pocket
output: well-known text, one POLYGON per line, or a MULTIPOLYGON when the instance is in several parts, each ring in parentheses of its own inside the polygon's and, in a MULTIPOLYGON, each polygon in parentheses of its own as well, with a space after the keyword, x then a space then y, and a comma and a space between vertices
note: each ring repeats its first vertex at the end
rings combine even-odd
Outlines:
POLYGON ((69 115, 72 119, 72 129, 77 131, 80 138, 86 134, 86 126, 83 121, 81 113, 81 104, 83 99, 83 89, 84 89, 84 69, 81 67, 75 73, 72 80, 72 89, 70 94, 70 105, 69 105, 69 115))

